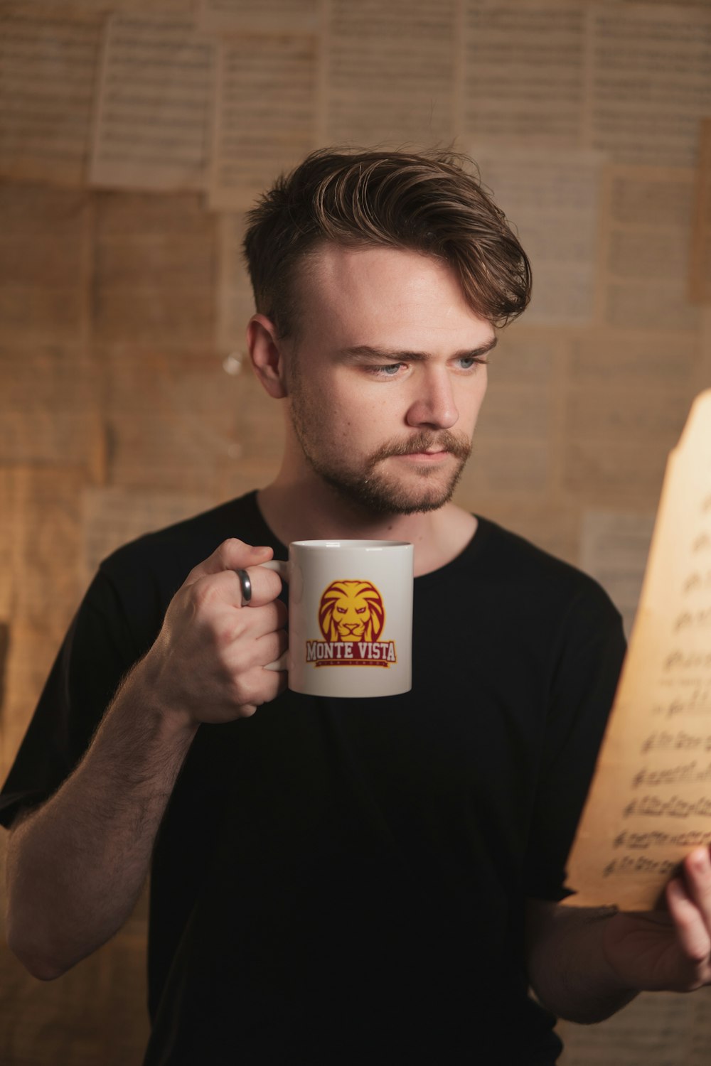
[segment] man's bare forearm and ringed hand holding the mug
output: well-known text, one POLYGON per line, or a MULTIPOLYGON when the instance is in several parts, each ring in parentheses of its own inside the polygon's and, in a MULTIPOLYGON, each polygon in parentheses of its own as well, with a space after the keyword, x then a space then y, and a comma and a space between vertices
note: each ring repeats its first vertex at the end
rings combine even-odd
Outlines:
POLYGON ((35 976, 59 976, 130 915, 198 725, 249 715, 284 688, 263 669, 286 644, 279 579, 251 570, 242 608, 235 574, 270 555, 228 540, 191 572, 82 762, 13 829, 7 941, 35 976))

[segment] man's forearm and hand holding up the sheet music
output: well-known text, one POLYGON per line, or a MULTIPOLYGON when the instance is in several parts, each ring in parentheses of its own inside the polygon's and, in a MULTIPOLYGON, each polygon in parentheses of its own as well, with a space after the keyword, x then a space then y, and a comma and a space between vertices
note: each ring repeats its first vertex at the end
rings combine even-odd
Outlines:
POLYGON ((667 910, 641 914, 530 901, 529 979, 544 1006, 570 1021, 601 1021, 640 991, 711 984, 711 860, 686 856, 666 887, 667 910))

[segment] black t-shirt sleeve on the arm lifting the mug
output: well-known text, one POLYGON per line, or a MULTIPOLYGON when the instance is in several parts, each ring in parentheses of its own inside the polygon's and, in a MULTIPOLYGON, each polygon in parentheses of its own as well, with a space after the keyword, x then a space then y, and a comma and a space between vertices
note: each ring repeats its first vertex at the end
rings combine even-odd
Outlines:
POLYGON ((140 658, 120 598, 99 570, 67 631, 0 792, 0 824, 48 798, 71 773, 122 678, 140 658))

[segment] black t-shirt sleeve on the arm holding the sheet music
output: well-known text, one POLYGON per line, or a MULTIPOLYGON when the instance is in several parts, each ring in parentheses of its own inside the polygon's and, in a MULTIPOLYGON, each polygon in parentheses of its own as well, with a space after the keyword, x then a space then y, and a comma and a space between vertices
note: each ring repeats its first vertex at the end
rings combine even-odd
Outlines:
POLYGON ((524 893, 547 900, 569 894, 565 866, 626 651, 619 613, 599 586, 576 598, 562 633, 523 868, 524 893))

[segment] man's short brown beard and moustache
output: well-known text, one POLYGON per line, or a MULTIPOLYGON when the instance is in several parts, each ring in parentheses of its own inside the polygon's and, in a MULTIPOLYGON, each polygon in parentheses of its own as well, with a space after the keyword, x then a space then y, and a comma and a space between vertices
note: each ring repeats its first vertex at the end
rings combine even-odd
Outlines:
POLYGON ((291 388, 294 434, 311 468, 342 500, 374 515, 413 515, 438 511, 449 503, 471 454, 472 441, 468 437, 449 430, 421 430, 406 440, 386 442, 355 469, 344 461, 346 449, 326 441, 316 429, 323 408, 317 409, 307 400, 300 384, 292 382, 291 388), (391 456, 432 450, 447 451, 456 459, 449 473, 426 463, 414 464, 405 481, 384 469, 383 464, 391 456))

